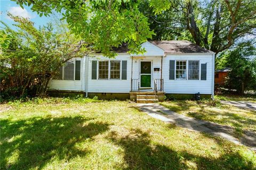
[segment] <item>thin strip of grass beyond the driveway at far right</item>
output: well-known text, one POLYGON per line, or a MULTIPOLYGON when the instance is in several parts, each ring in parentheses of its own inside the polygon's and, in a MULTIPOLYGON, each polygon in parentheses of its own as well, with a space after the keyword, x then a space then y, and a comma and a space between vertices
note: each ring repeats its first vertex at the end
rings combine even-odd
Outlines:
POLYGON ((215 95, 215 99, 217 100, 225 100, 225 101, 249 101, 256 102, 256 95, 215 95))

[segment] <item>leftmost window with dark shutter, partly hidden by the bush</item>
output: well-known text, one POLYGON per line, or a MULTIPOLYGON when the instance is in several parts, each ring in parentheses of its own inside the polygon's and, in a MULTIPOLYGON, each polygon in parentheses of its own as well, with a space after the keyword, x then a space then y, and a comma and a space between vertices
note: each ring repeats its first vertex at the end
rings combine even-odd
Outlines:
POLYGON ((59 75, 56 79, 59 80, 80 80, 81 61, 67 61, 65 66, 60 67, 59 75))

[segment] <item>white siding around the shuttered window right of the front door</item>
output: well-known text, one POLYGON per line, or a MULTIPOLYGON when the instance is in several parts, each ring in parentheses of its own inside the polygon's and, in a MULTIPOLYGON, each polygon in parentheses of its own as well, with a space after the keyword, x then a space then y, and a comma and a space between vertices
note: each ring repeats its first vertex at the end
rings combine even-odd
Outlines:
MULTIPOLYGON (((212 76, 213 63, 212 54, 167 54, 163 59, 163 79, 164 91, 166 93, 177 94, 212 94, 212 76), (170 80, 169 79, 169 62, 170 60, 199 60, 201 63, 207 63, 206 80, 170 80)), ((201 70, 199 75, 201 75, 201 70)))

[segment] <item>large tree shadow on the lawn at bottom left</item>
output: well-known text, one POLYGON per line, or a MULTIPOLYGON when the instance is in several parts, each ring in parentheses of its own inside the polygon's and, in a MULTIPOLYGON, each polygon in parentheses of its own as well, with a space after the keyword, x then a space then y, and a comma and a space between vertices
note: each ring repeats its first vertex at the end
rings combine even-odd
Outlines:
POLYGON ((83 117, 1 120, 1 169, 42 169, 51 159, 69 160, 89 150, 76 143, 108 130, 108 124, 83 117), (11 162, 8 162, 12 160, 11 162))

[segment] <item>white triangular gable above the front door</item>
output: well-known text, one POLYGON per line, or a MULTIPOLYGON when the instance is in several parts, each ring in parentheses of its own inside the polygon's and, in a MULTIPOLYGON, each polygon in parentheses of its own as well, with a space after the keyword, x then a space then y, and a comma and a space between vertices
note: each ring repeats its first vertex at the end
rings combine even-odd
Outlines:
POLYGON ((155 44, 145 42, 141 44, 142 48, 145 48, 146 52, 143 54, 131 54, 131 56, 164 56, 164 50, 155 44))

